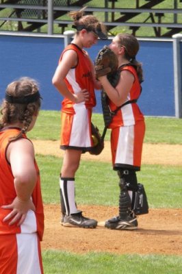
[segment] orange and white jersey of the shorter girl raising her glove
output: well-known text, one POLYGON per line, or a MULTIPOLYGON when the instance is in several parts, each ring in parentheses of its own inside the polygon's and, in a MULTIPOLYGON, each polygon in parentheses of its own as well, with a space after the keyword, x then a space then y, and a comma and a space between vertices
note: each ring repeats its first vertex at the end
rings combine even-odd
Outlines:
MULTIPOLYGON (((131 87, 131 90, 127 97, 127 101, 138 99, 141 93, 141 86, 135 69, 133 68, 133 66, 124 66, 120 70, 130 71, 135 77, 133 86, 131 87)), ((116 110, 117 108, 117 106, 111 100, 109 100, 109 107, 112 111, 116 110)), ((122 108, 120 108, 120 110, 118 110, 116 115, 113 117, 112 123, 110 123, 109 128, 112 129, 114 127, 135 125, 137 121, 141 120, 144 120, 144 116, 140 111, 140 108, 138 107, 137 103, 129 103, 128 105, 125 105, 122 108)))

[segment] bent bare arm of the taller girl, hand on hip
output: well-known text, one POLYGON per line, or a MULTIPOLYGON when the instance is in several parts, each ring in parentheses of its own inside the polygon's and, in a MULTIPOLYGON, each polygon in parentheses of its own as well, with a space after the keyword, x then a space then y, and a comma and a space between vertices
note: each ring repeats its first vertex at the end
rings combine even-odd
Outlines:
POLYGON ((68 71, 77 65, 77 53, 73 50, 66 51, 60 64, 55 70, 53 75, 52 83, 55 88, 66 98, 70 99, 74 103, 80 103, 81 101, 87 101, 89 93, 87 90, 81 90, 77 95, 71 93, 64 82, 64 78, 68 74, 68 71))

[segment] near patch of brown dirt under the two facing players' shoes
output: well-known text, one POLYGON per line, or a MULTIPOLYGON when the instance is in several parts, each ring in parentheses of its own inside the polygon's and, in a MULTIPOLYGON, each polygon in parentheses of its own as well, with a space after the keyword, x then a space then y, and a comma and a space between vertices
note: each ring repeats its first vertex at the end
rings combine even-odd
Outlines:
MULTIPOLYGON (((79 206, 83 215, 103 221, 115 216, 118 208, 79 206)), ((83 229, 60 224, 60 206, 46 205, 42 249, 60 249, 76 253, 103 251, 110 253, 182 255, 182 210, 155 209, 138 217, 135 231, 116 231, 97 227, 83 229)))

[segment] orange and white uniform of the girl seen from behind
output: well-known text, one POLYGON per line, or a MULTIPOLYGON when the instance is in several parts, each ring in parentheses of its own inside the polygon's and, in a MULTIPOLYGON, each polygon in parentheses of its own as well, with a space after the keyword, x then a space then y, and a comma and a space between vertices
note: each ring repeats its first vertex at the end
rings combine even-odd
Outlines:
MULTIPOLYGON (((19 132, 20 129, 16 127, 0 130, 0 273, 42 274, 40 241, 44 232, 44 212, 36 160, 38 180, 31 195, 36 212, 29 210, 21 226, 8 225, 8 222, 3 222, 11 210, 3 209, 1 206, 9 205, 16 197, 14 177, 6 158, 6 151, 10 138, 17 136, 19 132)), ((23 138, 27 137, 23 135, 23 138)))

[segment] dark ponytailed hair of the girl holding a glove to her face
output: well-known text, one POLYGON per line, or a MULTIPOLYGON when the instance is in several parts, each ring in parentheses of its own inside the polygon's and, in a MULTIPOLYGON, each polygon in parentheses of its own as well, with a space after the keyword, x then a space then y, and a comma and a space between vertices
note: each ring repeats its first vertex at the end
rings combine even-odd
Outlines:
POLYGON ((132 34, 118 34, 119 45, 125 47, 125 58, 129 60, 129 62, 135 66, 136 72, 138 74, 138 78, 140 82, 143 82, 143 71, 142 71, 142 63, 135 60, 135 56, 137 55, 140 45, 132 34))

